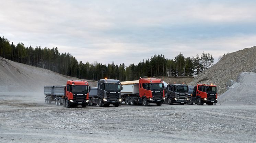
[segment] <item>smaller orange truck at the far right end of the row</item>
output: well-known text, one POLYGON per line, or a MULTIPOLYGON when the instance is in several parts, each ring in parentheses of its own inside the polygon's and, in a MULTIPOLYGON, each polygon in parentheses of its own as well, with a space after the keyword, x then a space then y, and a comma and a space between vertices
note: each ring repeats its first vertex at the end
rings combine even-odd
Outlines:
POLYGON ((218 102, 217 86, 210 84, 198 84, 194 87, 193 94, 191 94, 192 104, 197 105, 213 105, 218 102))

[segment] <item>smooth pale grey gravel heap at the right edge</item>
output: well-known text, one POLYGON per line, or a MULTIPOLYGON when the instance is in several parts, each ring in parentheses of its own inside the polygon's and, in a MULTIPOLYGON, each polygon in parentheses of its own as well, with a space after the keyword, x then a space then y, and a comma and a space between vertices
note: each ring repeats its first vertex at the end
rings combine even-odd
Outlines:
POLYGON ((256 105, 256 73, 242 72, 218 99, 219 104, 256 105))

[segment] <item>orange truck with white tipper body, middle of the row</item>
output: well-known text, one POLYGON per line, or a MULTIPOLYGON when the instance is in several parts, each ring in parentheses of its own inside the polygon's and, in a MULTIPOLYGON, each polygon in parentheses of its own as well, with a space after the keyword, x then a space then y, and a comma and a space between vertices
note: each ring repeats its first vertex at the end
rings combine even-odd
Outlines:
POLYGON ((121 82, 121 97, 126 105, 156 103, 161 106, 164 101, 164 83, 156 78, 141 78, 137 81, 121 82))

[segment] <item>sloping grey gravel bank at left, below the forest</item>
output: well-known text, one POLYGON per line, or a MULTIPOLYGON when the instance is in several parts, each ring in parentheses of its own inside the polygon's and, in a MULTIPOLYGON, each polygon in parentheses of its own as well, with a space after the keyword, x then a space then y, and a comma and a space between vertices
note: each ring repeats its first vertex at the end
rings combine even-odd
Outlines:
MULTIPOLYGON (((0 57, 0 92, 39 92, 43 94, 44 86, 66 85, 67 80, 78 80, 78 78, 0 57)), ((96 81, 87 81, 92 87, 97 84, 96 81)))

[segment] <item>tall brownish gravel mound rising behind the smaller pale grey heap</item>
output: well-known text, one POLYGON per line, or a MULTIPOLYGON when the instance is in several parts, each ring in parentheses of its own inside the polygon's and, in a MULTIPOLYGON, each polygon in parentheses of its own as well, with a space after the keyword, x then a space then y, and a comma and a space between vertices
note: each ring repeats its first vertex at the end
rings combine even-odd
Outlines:
POLYGON ((256 46, 229 53, 209 69, 194 77, 188 85, 216 84, 219 95, 227 90, 227 82, 236 81, 241 72, 256 72, 256 46))

